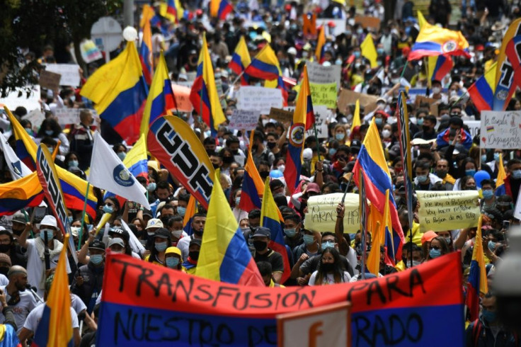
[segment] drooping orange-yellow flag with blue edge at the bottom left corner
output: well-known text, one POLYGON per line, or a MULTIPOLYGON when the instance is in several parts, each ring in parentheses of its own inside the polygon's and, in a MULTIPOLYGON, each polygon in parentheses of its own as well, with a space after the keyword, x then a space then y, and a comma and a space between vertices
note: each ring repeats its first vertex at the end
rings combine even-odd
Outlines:
MULTIPOLYGON (((64 244, 69 242, 69 234, 65 234, 64 244)), ((67 247, 59 253, 55 278, 45 302, 42 319, 35 332, 31 346, 74 346, 72 337, 71 292, 69 292, 69 277, 65 263, 67 247)))

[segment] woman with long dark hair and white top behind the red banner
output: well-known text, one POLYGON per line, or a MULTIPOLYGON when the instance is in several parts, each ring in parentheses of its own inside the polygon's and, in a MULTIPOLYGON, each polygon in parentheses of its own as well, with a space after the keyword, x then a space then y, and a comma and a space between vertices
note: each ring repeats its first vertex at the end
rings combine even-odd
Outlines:
POLYGON ((322 251, 319 269, 311 274, 309 285, 348 283, 350 279, 351 276, 343 268, 338 251, 333 247, 328 247, 322 251))

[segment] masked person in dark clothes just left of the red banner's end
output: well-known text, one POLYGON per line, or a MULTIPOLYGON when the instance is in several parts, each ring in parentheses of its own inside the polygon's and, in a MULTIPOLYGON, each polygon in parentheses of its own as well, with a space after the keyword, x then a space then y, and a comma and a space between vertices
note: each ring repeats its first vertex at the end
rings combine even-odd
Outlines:
POLYGON ((88 263, 80 266, 71 284, 71 292, 80 297, 90 314, 101 293, 105 271, 105 243, 94 239, 88 242, 88 263))

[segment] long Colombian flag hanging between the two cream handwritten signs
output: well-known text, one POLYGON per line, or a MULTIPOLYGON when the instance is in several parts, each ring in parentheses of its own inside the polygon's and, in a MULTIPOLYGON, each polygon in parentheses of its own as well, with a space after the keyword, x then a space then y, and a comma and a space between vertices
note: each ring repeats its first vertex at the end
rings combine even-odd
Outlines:
MULTIPOLYGON (((367 135, 365 135, 365 140, 362 143, 362 148, 353 168, 353 179, 355 182, 360 182, 358 178, 360 170, 362 170, 362 175, 364 176, 367 199, 377 207, 380 213, 383 213, 385 209, 385 191, 392 189, 392 183, 389 167, 385 161, 382 149, 382 141, 374 120, 372 120, 369 130, 367 130, 367 135)), ((386 240, 389 239, 388 244, 390 244, 387 252, 390 254, 389 258, 394 264, 396 259, 401 260, 401 248, 405 238, 401 230, 393 195, 389 195, 389 215, 391 216, 392 231, 389 230, 389 234, 386 235, 386 240)))

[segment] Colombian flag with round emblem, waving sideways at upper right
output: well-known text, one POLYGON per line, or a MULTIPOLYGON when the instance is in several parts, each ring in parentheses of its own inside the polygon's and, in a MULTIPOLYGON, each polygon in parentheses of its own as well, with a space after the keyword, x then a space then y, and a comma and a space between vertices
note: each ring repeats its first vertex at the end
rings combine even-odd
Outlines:
POLYGON ((468 48, 469 42, 466 41, 461 31, 448 30, 425 23, 420 29, 411 53, 408 55, 408 60, 436 55, 464 55, 469 57, 468 48))

